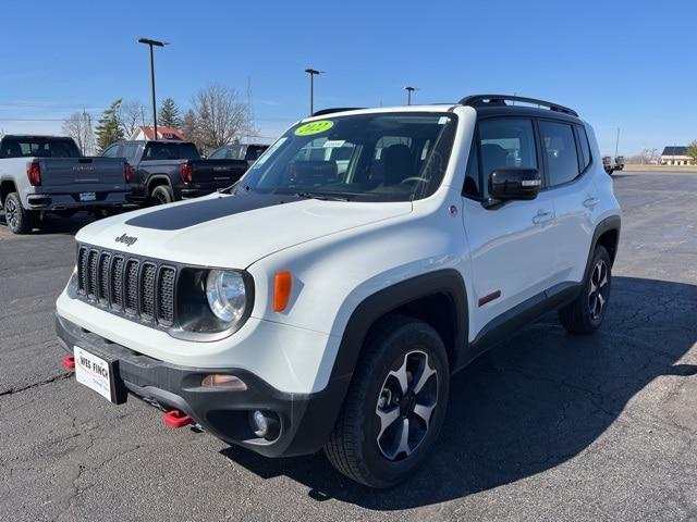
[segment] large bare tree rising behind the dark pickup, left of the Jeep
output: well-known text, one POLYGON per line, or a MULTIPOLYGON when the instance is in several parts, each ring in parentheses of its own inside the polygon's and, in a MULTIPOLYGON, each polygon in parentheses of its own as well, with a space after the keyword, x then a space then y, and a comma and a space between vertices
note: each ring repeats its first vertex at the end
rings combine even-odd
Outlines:
POLYGON ((200 89, 193 100, 196 120, 196 145, 204 153, 242 136, 255 134, 248 103, 240 101, 237 91, 221 84, 200 89))

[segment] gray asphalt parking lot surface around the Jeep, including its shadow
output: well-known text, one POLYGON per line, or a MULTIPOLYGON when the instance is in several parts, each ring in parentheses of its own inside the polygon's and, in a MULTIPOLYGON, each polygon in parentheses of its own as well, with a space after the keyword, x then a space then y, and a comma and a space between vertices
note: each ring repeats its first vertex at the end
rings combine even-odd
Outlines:
POLYGON ((387 492, 76 384, 52 312, 89 220, 19 237, 0 214, 0 520, 696 520, 697 173, 625 172, 615 190, 601 332, 550 315, 457 374, 432 458, 387 492))

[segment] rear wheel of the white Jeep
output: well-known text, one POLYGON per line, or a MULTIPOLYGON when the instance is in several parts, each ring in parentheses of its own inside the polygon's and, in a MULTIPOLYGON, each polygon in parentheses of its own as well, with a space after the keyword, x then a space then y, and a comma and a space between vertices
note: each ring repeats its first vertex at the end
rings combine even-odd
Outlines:
POLYGON ((604 247, 598 245, 580 295, 559 310, 559 320, 568 333, 591 334, 600 327, 608 310, 611 285, 610 254, 604 247))

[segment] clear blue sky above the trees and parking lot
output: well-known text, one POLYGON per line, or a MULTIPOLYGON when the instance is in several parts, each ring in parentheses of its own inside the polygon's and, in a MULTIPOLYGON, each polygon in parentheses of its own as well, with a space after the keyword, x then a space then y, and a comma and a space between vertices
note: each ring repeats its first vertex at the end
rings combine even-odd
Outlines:
POLYGON ((326 70, 315 107, 444 102, 517 92, 576 109, 603 152, 697 139, 697 2, 671 1, 9 1, 0 46, 0 129, 59 134, 115 98, 186 108, 209 83, 250 82, 260 134, 306 114, 303 70, 326 70))

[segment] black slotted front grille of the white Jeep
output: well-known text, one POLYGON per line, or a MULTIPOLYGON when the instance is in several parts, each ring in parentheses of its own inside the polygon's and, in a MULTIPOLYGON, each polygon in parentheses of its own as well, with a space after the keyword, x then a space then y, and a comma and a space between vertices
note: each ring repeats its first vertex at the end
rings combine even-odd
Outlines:
POLYGON ((77 295, 127 319, 169 327, 174 323, 176 269, 142 259, 81 246, 77 295))

